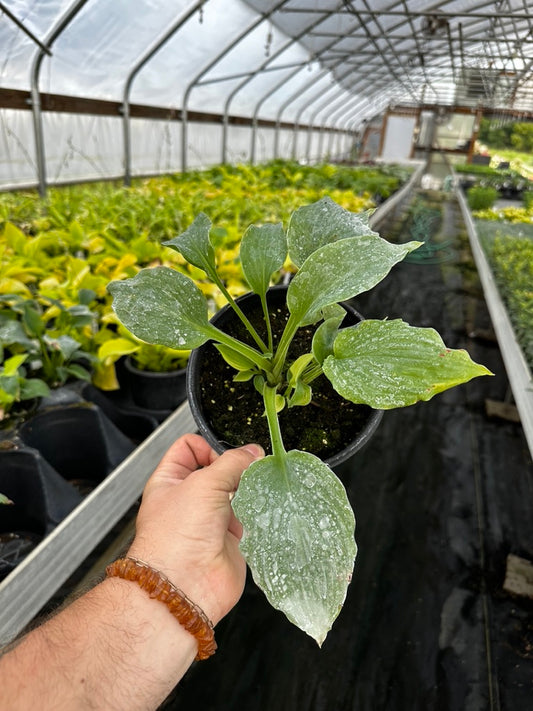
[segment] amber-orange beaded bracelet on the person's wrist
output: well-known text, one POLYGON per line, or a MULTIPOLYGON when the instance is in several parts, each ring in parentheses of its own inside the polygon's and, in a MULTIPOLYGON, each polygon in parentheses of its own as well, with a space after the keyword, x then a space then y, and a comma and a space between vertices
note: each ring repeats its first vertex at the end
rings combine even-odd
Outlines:
POLYGON ((135 558, 120 558, 106 568, 108 578, 131 580, 145 590, 150 597, 164 603, 176 620, 198 642, 196 659, 207 659, 215 653, 217 644, 213 624, 198 605, 189 600, 170 580, 154 570, 148 563, 135 558))

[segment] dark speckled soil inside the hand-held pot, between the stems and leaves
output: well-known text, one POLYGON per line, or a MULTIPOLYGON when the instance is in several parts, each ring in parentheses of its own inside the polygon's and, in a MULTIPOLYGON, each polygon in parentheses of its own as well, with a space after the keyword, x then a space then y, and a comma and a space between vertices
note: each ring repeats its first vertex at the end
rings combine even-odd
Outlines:
MULTIPOLYGON (((288 318, 282 292, 272 292, 279 305, 272 310, 271 322, 274 342, 277 342, 288 318)), ((244 307, 246 315, 266 341, 266 329, 261 305, 244 307)), ((224 325, 217 326, 231 336, 254 345, 250 334, 233 312, 226 312, 224 325)), ((350 319, 345 318, 349 325, 350 319)), ((357 321, 357 319, 352 319, 357 321)), ((288 362, 311 350, 314 327, 300 329, 291 344, 288 362)), ((231 446, 258 442, 270 452, 270 437, 261 395, 250 380, 234 383, 235 369, 230 367, 215 347, 208 343, 203 348, 201 365, 201 393, 204 417, 211 423, 218 439, 231 446)), ((313 399, 305 407, 285 408, 279 415, 285 448, 303 449, 328 459, 344 449, 366 425, 372 413, 365 405, 354 405, 344 400, 332 388, 325 376, 312 383, 313 399)))

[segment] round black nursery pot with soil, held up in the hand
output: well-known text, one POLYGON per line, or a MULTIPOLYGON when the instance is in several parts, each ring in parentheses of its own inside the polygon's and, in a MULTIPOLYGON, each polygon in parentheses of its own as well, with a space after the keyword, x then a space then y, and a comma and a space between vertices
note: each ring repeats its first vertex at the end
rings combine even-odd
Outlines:
MULTIPOLYGON (((273 287, 267 301, 274 339, 281 335, 288 318, 286 286, 273 287)), ((237 302, 261 337, 266 327, 261 302, 256 294, 245 294, 237 302)), ((343 326, 355 325, 363 317, 349 304, 343 326)), ((236 338, 255 345, 231 307, 218 311, 211 323, 236 338)), ((289 350, 289 359, 309 352, 314 327, 299 330, 289 350)), ((268 423, 262 398, 253 382, 233 382, 235 370, 221 357, 211 342, 192 351, 187 368, 187 397, 200 434, 221 453, 231 447, 258 442, 270 452, 268 423)), ((313 402, 305 407, 285 408, 279 415, 287 450, 312 452, 330 466, 351 457, 370 439, 383 412, 367 405, 355 405, 341 398, 322 375, 312 383, 313 402)))

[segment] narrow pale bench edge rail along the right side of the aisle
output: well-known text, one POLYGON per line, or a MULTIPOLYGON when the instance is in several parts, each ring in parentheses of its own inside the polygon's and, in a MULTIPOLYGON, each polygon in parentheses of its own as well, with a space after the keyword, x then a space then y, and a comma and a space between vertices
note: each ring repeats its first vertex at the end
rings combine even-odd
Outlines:
POLYGON ((468 231, 472 254, 483 286, 485 300, 502 354, 509 384, 513 391, 529 451, 533 456, 533 378, 516 339, 507 309, 500 297, 492 269, 483 251, 464 194, 458 191, 459 205, 468 231))

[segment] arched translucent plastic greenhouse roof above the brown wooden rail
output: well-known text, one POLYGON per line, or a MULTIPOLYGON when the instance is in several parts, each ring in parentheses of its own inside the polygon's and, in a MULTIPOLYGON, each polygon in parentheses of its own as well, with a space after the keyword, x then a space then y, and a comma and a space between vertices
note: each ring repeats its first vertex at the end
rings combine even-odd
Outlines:
POLYGON ((51 94, 122 101, 131 88, 140 104, 337 126, 391 105, 531 112, 532 11, 526 0, 0 0, 0 89, 27 91, 33 74, 51 94))

